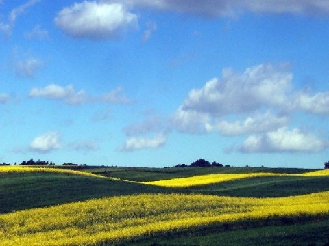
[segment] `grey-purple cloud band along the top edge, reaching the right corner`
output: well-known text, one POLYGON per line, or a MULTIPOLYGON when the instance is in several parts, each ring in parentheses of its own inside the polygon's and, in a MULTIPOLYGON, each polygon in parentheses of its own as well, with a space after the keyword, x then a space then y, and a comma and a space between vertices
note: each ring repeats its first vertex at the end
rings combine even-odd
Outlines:
MULTIPOLYGON (((119 2, 103 0, 103 2, 119 2)), ((182 12, 208 17, 237 16, 245 12, 274 14, 329 14, 326 0, 121 0, 121 3, 136 8, 182 12)))

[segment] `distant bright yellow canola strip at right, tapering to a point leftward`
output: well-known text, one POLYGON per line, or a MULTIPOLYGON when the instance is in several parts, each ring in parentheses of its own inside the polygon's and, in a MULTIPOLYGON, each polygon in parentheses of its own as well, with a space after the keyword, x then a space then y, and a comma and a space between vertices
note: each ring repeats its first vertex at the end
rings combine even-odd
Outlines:
POLYGON ((243 178, 256 178, 265 176, 329 176, 329 169, 307 172, 304 174, 276 174, 276 173, 250 173, 250 174, 206 174, 187 178, 173 178, 143 182, 143 184, 158 185, 162 187, 193 187, 197 185, 215 184, 243 178))

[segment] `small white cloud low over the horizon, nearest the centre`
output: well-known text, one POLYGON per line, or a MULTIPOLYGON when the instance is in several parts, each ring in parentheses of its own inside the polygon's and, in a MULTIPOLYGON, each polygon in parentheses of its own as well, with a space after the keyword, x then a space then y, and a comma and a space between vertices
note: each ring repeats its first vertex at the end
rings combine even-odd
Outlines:
POLYGON ((143 150, 143 149, 156 149, 164 146, 167 142, 167 136, 165 135, 156 135, 152 139, 148 139, 145 137, 132 137, 125 141, 125 145, 120 148, 120 151, 131 152, 135 150, 143 150))

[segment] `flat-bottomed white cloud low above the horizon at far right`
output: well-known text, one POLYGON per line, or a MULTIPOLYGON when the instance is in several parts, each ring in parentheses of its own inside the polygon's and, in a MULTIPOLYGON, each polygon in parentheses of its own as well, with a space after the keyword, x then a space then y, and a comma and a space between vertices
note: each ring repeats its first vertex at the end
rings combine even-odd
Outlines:
POLYGON ((239 151, 241 152, 319 152, 328 148, 328 143, 315 135, 302 133, 299 129, 289 131, 279 128, 261 135, 247 137, 239 151))

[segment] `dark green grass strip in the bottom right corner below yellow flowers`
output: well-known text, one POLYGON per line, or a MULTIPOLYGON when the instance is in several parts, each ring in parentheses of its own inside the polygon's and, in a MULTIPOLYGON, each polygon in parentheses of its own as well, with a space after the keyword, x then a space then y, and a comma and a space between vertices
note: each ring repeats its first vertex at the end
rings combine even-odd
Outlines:
POLYGON ((329 220, 304 221, 285 225, 268 221, 273 225, 258 226, 252 223, 242 225, 226 224, 226 228, 208 228, 197 234, 167 234, 139 241, 127 241, 122 245, 130 246, 328 246, 329 220), (238 228, 237 226, 241 226, 238 228))

